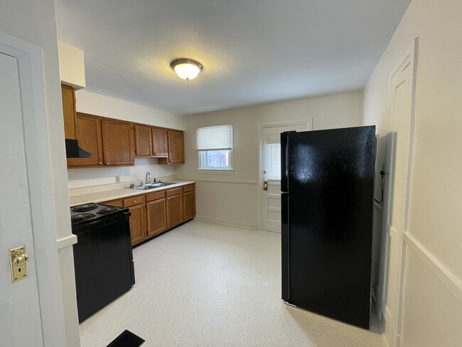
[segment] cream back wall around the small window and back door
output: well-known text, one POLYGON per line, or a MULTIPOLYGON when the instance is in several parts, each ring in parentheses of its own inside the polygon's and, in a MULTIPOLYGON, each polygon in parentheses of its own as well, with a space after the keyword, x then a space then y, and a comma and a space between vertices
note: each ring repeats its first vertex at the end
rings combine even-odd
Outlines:
POLYGON ((349 92, 185 117, 186 164, 176 173, 197 182, 196 218, 257 228, 258 124, 311 118, 313 129, 355 127, 362 123, 362 101, 362 92, 349 92), (233 125, 235 171, 201 173, 195 130, 220 124, 233 125))

